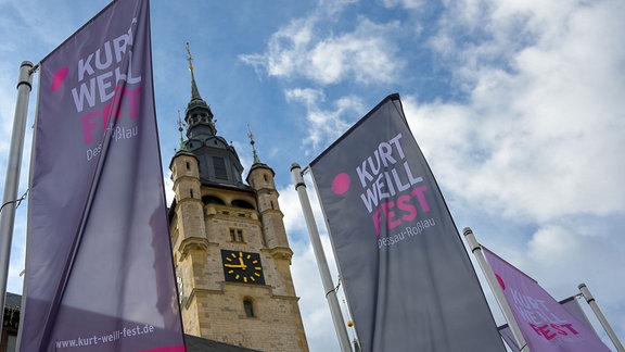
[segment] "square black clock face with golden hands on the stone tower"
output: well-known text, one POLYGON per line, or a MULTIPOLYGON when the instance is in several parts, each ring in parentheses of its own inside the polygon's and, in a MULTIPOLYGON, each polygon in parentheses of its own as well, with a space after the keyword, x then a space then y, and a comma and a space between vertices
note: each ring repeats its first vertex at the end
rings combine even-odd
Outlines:
POLYGON ((221 260, 227 281, 265 285, 260 254, 221 250, 221 260))

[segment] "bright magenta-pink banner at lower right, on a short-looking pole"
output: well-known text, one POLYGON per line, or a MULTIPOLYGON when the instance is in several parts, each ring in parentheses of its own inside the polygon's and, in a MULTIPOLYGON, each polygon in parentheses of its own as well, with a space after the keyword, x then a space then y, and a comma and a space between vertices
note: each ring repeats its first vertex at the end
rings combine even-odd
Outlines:
MULTIPOLYGON (((584 318, 579 318, 578 314, 558 303, 533 278, 487 248, 482 247, 482 250, 531 351, 610 351, 589 326, 584 312, 581 312, 584 318)), ((512 343, 511 348, 515 344, 512 343)))

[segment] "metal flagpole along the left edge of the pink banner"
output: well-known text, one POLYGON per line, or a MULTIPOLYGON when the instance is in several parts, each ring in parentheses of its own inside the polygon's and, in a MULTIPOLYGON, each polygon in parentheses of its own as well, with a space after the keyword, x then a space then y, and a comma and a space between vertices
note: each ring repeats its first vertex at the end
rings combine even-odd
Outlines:
POLYGON ((521 334, 521 329, 514 319, 514 315, 512 315, 512 310, 510 309, 510 305, 503 296, 503 290, 501 290, 501 287, 495 277, 495 273, 493 273, 493 269, 488 263, 486 263, 484 253, 482 253, 482 246, 480 246, 475 239, 475 235, 473 235, 473 230, 471 230, 470 227, 464 227, 462 232, 464 234, 467 243, 469 243, 469 247, 471 248, 471 252, 473 252, 473 255, 475 255, 475 259, 477 260, 477 264, 480 264, 480 268, 482 268, 482 273, 484 273, 484 276, 486 277, 486 281, 488 281, 490 291, 493 291, 493 294, 495 294, 495 299, 501 309, 501 313, 503 313, 506 322, 508 322, 508 326, 510 327, 512 336, 519 345, 519 350, 521 352, 530 352, 530 347, 527 345, 523 334, 521 334))

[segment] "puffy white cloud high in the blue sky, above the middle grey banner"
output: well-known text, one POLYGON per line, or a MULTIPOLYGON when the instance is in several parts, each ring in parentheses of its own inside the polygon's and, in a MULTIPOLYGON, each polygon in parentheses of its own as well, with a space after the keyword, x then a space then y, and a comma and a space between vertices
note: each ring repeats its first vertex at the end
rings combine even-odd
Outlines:
POLYGON ((240 59, 278 78, 306 78, 318 85, 333 85, 345 79, 373 85, 397 78, 404 62, 391 34, 397 22, 377 24, 360 18, 352 32, 324 33, 332 21, 319 13, 296 18, 275 33, 267 51, 240 59))

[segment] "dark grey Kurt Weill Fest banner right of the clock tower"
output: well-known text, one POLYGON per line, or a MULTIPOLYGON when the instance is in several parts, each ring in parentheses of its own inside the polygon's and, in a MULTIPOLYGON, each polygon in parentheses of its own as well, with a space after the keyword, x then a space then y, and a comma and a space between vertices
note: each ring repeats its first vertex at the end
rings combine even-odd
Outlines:
POLYGON ((505 351, 398 95, 310 169, 362 351, 505 351))

